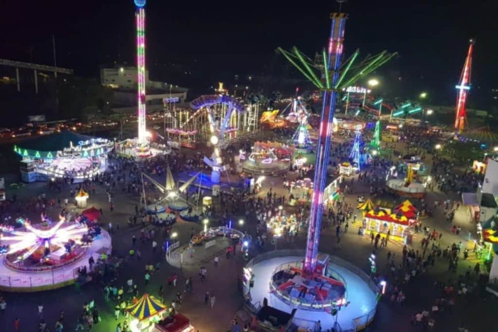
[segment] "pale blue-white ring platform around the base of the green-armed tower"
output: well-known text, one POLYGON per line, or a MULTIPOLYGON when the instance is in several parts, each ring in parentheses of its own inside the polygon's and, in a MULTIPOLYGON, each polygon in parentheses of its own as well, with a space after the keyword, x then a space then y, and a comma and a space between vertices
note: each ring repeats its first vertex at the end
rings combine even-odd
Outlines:
MULTIPOLYGON (((259 255, 261 257, 256 256, 249 261, 246 267, 251 268, 254 281, 253 287, 249 288, 249 300, 252 305, 257 307, 266 298, 269 306, 286 313, 297 309, 294 323, 300 328, 308 329, 314 322, 321 321, 322 329, 328 330, 334 328, 336 320, 336 316, 331 315, 332 302, 343 296, 349 305, 342 307, 337 316, 337 323, 342 331, 350 329, 357 331, 355 328, 362 329, 373 320, 377 305, 376 286, 369 281, 365 272, 336 256, 330 257, 326 276, 341 280, 345 285, 344 293, 341 293, 340 289, 331 289, 329 299, 313 301, 309 297, 306 299, 302 294, 299 297, 299 291, 297 294, 294 294, 295 292, 289 294, 279 290, 278 286, 282 285, 283 280, 278 280, 280 276, 277 273, 295 265, 302 266, 303 256, 289 255, 294 251, 296 254, 302 252, 302 250, 276 250, 259 255), (275 281, 275 275, 278 282, 275 281)), ((318 290, 320 286, 321 284, 317 286, 318 290)))

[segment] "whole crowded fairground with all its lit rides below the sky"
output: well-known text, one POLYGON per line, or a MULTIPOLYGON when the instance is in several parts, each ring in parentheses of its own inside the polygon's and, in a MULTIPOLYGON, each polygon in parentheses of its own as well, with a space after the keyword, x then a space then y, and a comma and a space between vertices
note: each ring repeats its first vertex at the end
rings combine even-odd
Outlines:
MULTIPOLYGON (((295 76, 278 79, 283 94, 265 73, 220 71, 202 93, 173 95, 169 78, 149 80, 161 66, 191 75, 160 59, 163 7, 128 2, 133 47, 120 47, 136 67, 101 72, 132 100, 129 114, 116 107, 119 133, 74 124, 0 141, 16 162, 0 178, 2 331, 493 331, 498 135, 470 108, 482 44, 455 42, 456 102, 436 107, 392 69, 398 44, 357 42, 364 16, 337 0, 327 29, 301 26, 321 38, 314 55, 273 27, 285 38, 271 39, 270 67, 295 76)), ((34 70, 38 94, 42 69, 28 65, 16 66, 34 70)))

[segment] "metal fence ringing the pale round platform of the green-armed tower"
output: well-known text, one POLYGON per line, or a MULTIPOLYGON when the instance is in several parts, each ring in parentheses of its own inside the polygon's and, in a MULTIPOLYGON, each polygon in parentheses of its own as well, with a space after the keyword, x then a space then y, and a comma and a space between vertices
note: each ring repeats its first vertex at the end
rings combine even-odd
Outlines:
MULTIPOLYGON (((263 260, 271 258, 285 257, 285 256, 304 257, 304 255, 305 255, 305 250, 303 249, 282 249, 282 250, 268 251, 253 257, 246 264, 246 267, 252 267, 263 260)), ((371 280, 370 276, 367 273, 365 273, 365 271, 363 271, 361 268, 337 256, 330 256, 330 262, 339 265, 341 267, 344 267, 350 270, 351 272, 355 273, 356 275, 358 275, 363 281, 367 283, 367 285, 369 285, 373 293, 377 294, 378 292, 377 285, 371 280)), ((370 323, 372 323, 373 318, 375 317, 376 309, 377 306, 375 304, 375 307, 371 311, 369 311, 366 315, 354 318, 351 322, 351 329, 353 329, 353 331, 360 331, 362 329, 365 329, 370 323)), ((316 326, 314 325, 315 322, 313 321, 294 318, 294 323, 300 328, 311 329, 312 331, 315 331, 314 329, 316 326)), ((346 330, 349 330, 349 328, 347 328, 346 330)))

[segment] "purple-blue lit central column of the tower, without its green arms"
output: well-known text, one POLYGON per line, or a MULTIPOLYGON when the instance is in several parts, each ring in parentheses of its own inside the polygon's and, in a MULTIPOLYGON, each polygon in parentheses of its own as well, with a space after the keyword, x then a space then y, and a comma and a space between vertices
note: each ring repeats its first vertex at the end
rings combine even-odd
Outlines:
MULTIPOLYGON (((347 14, 332 13, 332 26, 330 28, 330 38, 328 46, 328 68, 326 71, 332 72, 332 87, 336 86, 339 80, 339 67, 343 54, 344 27, 346 25, 347 14)), ((317 156, 315 163, 315 178, 313 181, 313 195, 311 198, 310 221, 308 226, 308 240, 306 243, 306 257, 304 258, 303 272, 312 274, 315 272, 318 242, 320 240, 320 230, 322 227, 322 201, 325 180, 327 179, 327 165, 329 163, 329 153, 332 135, 332 119, 336 109, 337 89, 323 90, 322 116, 320 121, 320 131, 318 135, 317 156)))

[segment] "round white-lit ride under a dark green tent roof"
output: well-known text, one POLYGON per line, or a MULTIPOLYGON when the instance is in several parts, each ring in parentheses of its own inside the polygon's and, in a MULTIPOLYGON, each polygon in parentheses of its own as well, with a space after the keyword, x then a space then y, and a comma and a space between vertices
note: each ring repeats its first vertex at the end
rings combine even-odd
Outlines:
POLYGON ((56 178, 73 179, 74 183, 104 172, 107 154, 113 142, 106 138, 63 130, 14 145, 22 157, 21 179, 24 182, 48 181, 56 178))

